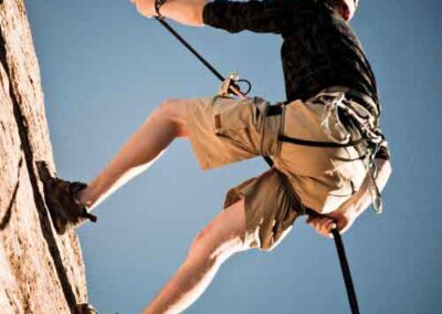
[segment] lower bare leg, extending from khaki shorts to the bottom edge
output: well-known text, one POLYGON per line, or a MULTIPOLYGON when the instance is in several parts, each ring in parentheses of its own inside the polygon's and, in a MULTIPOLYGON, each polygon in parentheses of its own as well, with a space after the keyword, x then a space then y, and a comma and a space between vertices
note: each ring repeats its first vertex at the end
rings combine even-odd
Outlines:
POLYGON ((240 200, 223 210, 194 238, 185 262, 144 314, 185 311, 204 292, 228 258, 250 248, 250 243, 244 243, 244 202, 240 200))

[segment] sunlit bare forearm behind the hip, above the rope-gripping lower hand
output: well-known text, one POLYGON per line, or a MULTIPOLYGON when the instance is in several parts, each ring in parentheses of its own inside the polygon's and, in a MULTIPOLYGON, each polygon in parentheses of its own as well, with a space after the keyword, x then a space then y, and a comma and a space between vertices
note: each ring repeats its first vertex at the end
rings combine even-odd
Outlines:
MULTIPOLYGON (((379 191, 382 191, 391 175, 391 164, 388 159, 375 159, 375 163, 378 169, 375 178, 376 185, 378 186, 379 191)), ((370 177, 367 176, 356 195, 356 203, 352 207, 356 216, 361 214, 372 202, 369 185, 370 177)))

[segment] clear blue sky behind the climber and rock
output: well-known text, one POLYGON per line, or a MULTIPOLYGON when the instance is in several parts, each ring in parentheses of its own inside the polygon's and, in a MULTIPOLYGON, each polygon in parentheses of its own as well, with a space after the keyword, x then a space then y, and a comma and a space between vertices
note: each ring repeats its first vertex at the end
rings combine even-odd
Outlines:
MULTIPOLYGON (((167 97, 208 96, 218 82, 129 1, 27 1, 59 175, 90 180, 167 97)), ((366 0, 352 25, 377 74, 393 154, 385 213, 367 211, 345 236, 362 313, 440 313, 442 295, 441 30, 439 0, 366 0)), ((255 95, 284 100, 275 35, 178 27, 222 72, 255 95)), ((265 170, 261 159, 202 172, 175 143, 148 172, 78 231, 91 303, 139 311, 220 210, 225 190, 265 170)), ((302 220, 272 253, 224 264, 187 313, 349 313, 334 243, 302 220)))

